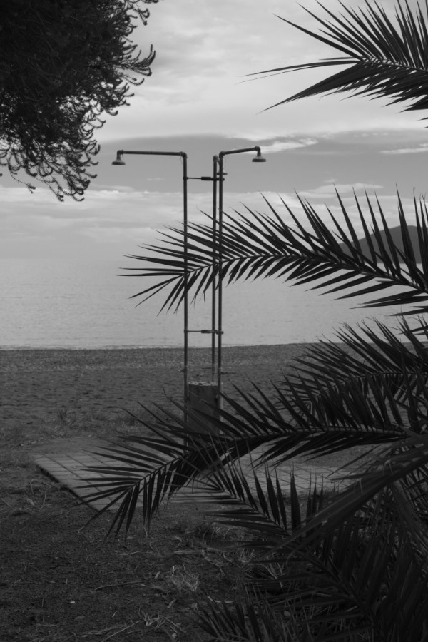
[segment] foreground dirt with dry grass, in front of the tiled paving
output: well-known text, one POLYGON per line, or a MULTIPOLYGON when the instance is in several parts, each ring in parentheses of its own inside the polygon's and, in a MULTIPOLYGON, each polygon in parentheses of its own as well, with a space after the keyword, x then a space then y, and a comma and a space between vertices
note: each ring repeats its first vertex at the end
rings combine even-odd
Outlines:
POLYGON ((197 603, 232 599, 246 563, 233 533, 205 519, 210 506, 171 503, 149 530, 137 517, 126 541, 104 541, 111 515, 86 526, 94 511, 38 472, 31 452, 0 464, 1 641, 208 640, 197 603))

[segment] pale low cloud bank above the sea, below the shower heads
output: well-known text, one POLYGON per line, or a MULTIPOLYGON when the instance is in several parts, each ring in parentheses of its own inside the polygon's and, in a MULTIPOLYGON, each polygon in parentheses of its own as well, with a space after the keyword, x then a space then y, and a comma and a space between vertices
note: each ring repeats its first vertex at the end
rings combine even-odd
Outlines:
MULTIPOLYGON (((0 213, 2 250, 8 255, 27 253, 44 256, 49 252, 76 253, 96 244, 97 251, 118 256, 135 253, 139 245, 157 243, 160 232, 183 222, 183 193, 148 190, 89 190, 81 203, 58 203, 49 190, 41 188, 31 195, 22 188, 1 188, 0 213), (29 248, 31 251, 29 251, 29 248)), ((275 193, 267 193, 272 203, 280 204, 275 193)), ((250 208, 266 210, 260 193, 224 193, 225 211, 250 208)), ((295 203, 295 197, 290 197, 295 203)), ((204 213, 212 213, 212 195, 190 193, 188 218, 191 223, 208 223, 204 213)))

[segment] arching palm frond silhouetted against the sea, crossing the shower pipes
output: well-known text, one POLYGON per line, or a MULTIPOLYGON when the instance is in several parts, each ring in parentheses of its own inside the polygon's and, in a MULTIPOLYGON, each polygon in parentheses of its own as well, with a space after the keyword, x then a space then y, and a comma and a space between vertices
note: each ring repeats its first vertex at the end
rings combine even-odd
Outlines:
MULTIPOLYGON (((404 286, 404 292, 386 297, 376 297, 362 304, 373 306, 407 306, 418 304, 404 314, 418 314, 428 310, 428 210, 426 204, 414 201, 414 218, 417 225, 417 248, 413 248, 408 215, 404 213, 398 196, 398 217, 402 238, 402 249, 391 235, 382 206, 377 201, 378 214, 367 196, 371 230, 369 230, 357 196, 355 205, 365 233, 368 255, 357 238, 355 225, 350 213, 337 194, 344 223, 340 225, 330 210, 330 226, 316 213, 312 205, 300 199, 302 215, 297 216, 286 203, 290 215, 289 225, 273 208, 270 215, 248 209, 249 215, 238 218, 225 217, 223 226, 221 273, 219 272, 218 230, 213 235, 212 225, 191 224, 188 230, 188 292, 196 298, 205 295, 213 283, 213 275, 226 284, 238 280, 265 277, 292 280, 295 284, 307 285, 315 282, 313 289, 337 295, 350 290, 340 298, 372 295, 397 285, 404 286), (381 232, 383 228, 383 234, 381 232), (213 252, 217 261, 213 265, 213 252), (420 255, 421 264, 416 255, 420 255), (342 271, 342 273, 341 273, 342 271), (370 285, 372 282, 372 285, 370 285), (373 283, 374 282, 374 283, 373 283)), ((149 245, 148 255, 133 255, 132 258, 145 263, 143 267, 128 267, 131 276, 156 278, 156 285, 146 287, 134 297, 149 297, 169 288, 161 309, 178 307, 183 300, 185 288, 183 230, 173 228, 165 233, 163 245, 149 245), (156 267, 148 267, 148 265, 156 267), (159 280, 161 280, 159 282, 159 280)))

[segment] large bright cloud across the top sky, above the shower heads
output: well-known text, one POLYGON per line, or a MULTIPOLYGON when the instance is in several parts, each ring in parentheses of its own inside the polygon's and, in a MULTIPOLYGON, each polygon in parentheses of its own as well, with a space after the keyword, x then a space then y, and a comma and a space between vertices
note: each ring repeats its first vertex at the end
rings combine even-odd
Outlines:
MULTIPOLYGON (((337 0, 325 1, 337 11, 337 0)), ((358 6, 350 0, 347 6, 358 6)), ((330 47, 277 16, 318 29, 297 2, 283 0, 183 0, 153 6, 147 27, 136 31, 142 51, 153 42, 153 75, 135 88, 130 106, 108 117, 100 141, 131 136, 217 133, 255 138, 317 136, 328 131, 390 131, 419 128, 413 114, 364 97, 307 98, 263 111, 305 86, 322 80, 326 70, 306 70, 245 81, 247 74, 333 54, 330 47), (276 15, 275 15, 276 14, 276 15)), ((315 0, 305 7, 322 16, 315 0)))

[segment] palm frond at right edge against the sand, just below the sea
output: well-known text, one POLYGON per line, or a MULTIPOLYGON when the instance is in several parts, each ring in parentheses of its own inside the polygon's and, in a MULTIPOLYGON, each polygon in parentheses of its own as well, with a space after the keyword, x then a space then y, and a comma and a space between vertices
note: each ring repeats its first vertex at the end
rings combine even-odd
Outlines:
POLYGON ((401 331, 412 337, 410 344, 379 322, 377 332, 345 327, 337 332, 340 344, 320 342, 296 360, 298 375, 277 384, 278 404, 300 425, 300 418, 307 422, 312 413, 317 422, 331 427, 351 429, 360 424, 366 429, 383 429, 387 439, 394 432, 399 439, 402 427, 425 432, 427 344, 417 340, 405 320, 401 331))

